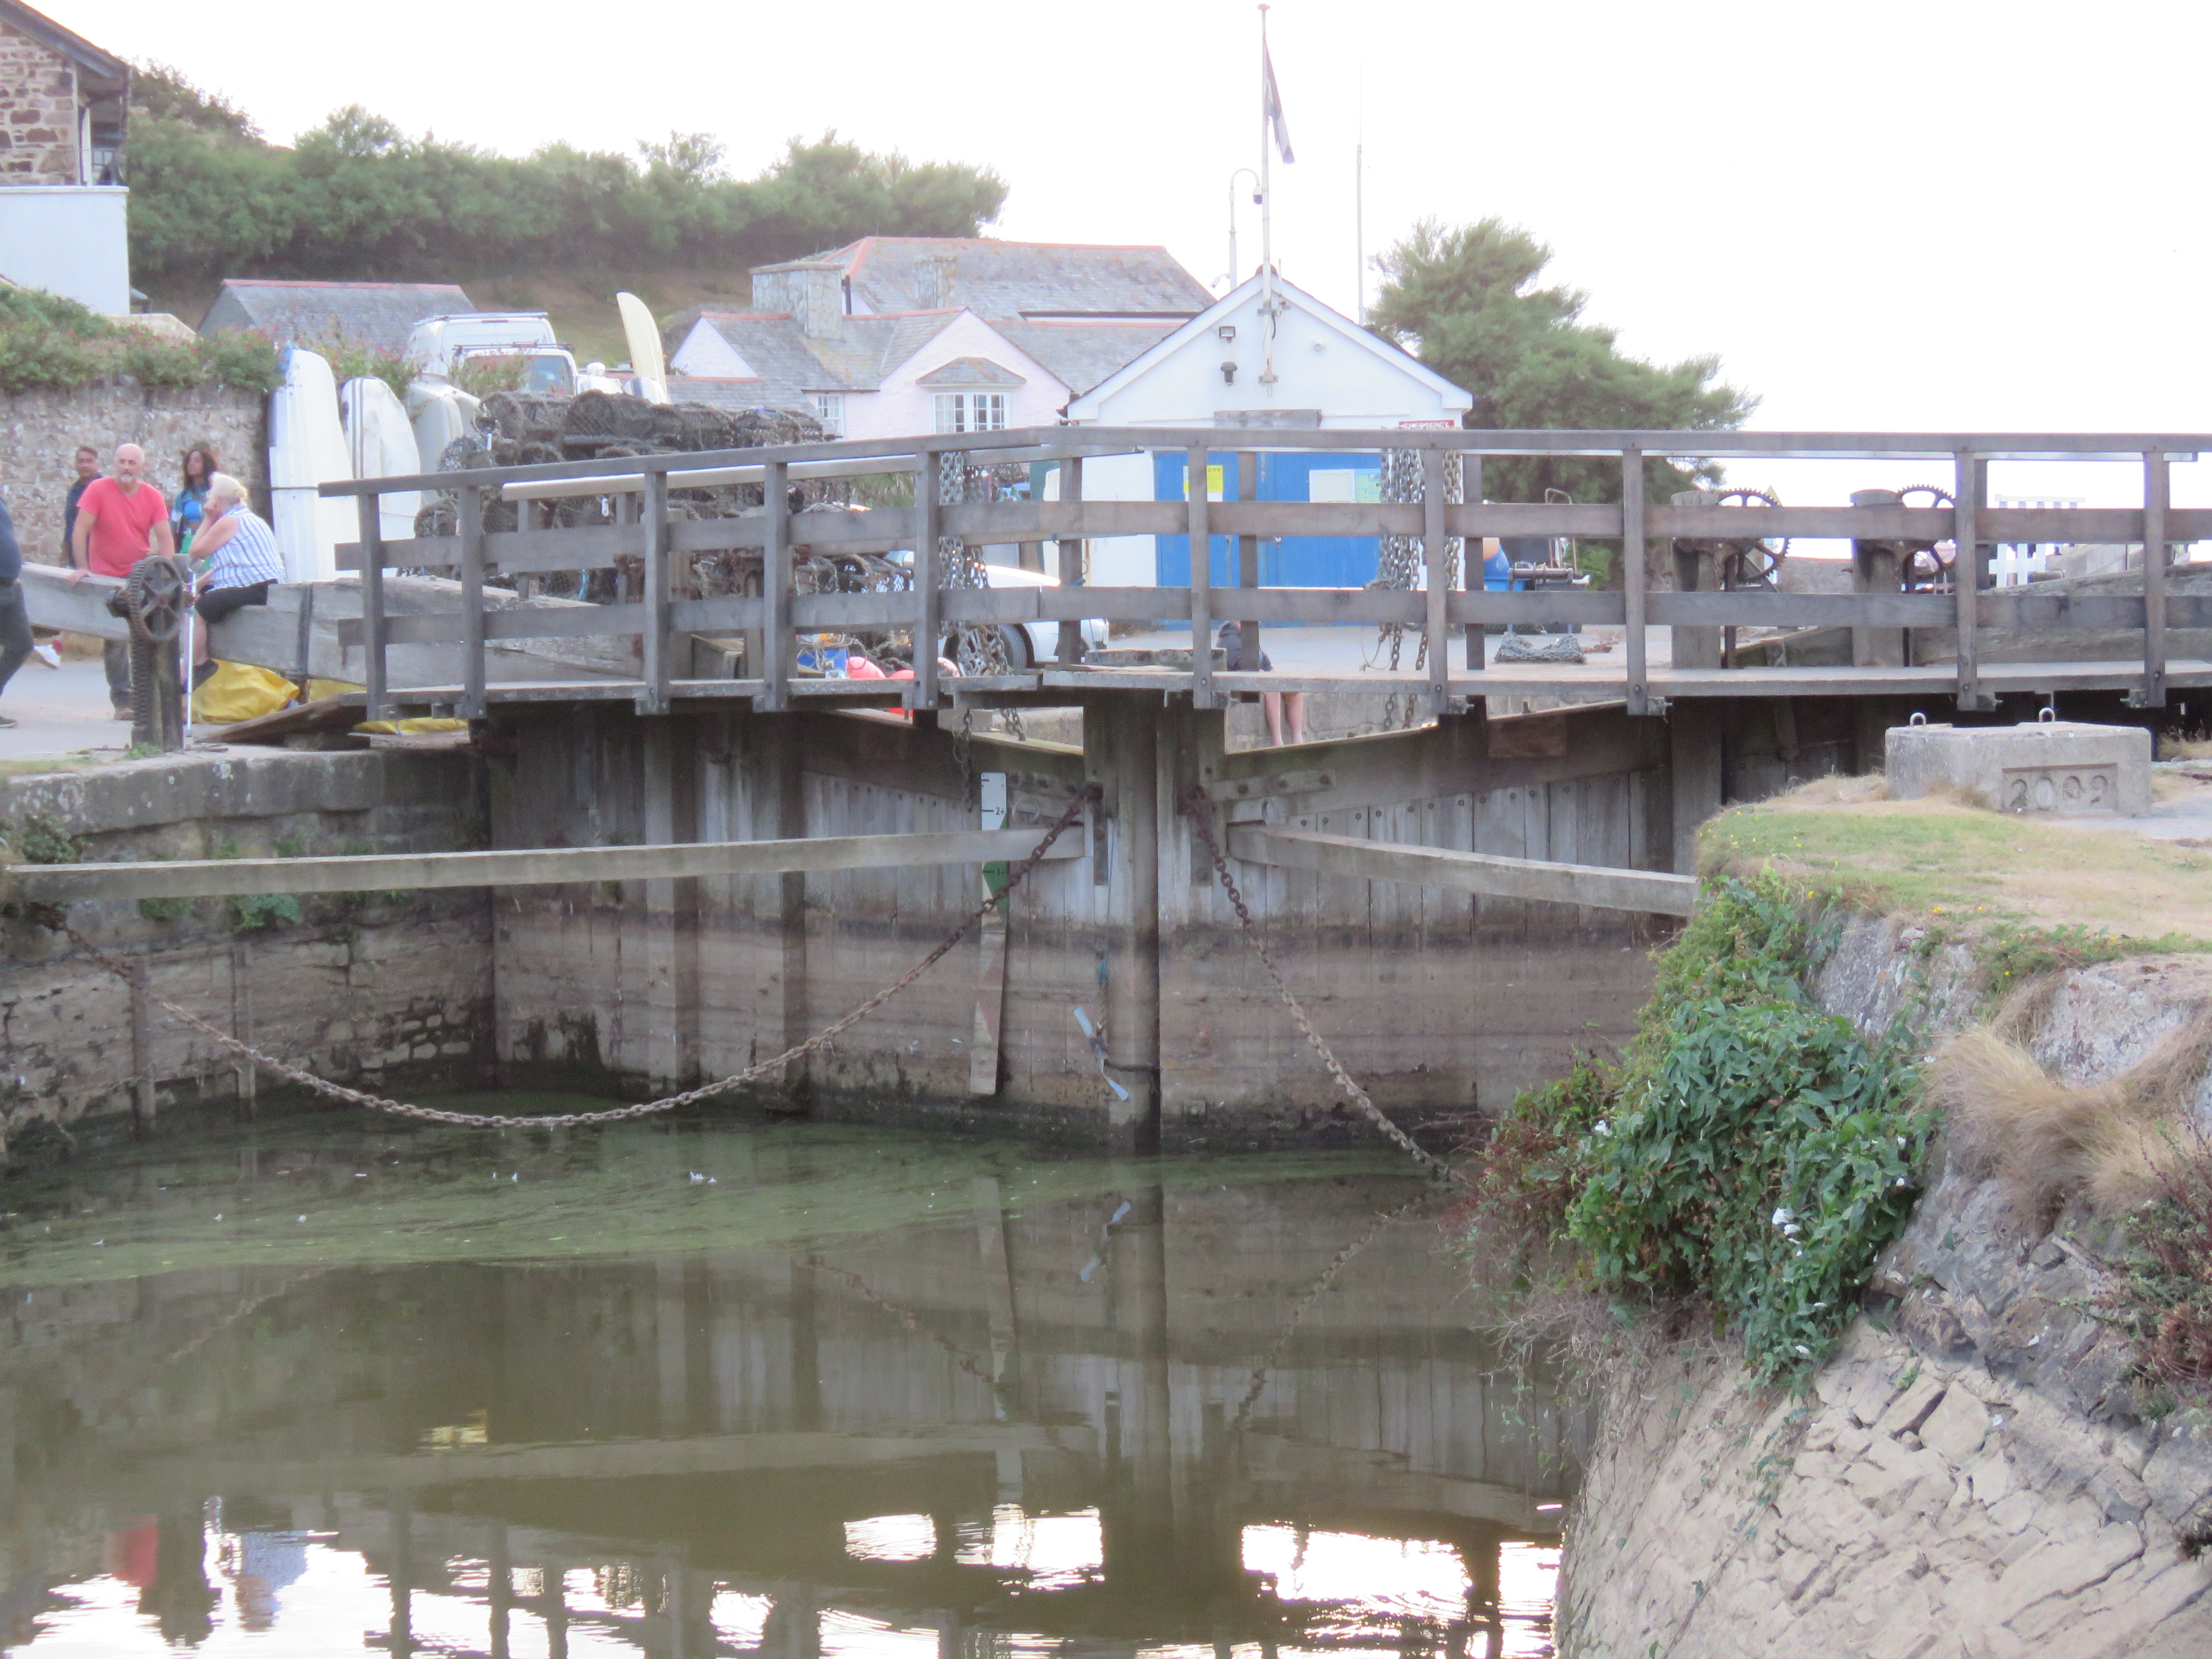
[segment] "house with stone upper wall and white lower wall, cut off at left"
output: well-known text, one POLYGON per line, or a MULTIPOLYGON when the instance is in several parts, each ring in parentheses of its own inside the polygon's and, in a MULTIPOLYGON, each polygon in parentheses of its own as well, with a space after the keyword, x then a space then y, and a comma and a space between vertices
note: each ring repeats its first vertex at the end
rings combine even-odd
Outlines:
POLYGON ((131 310, 124 115, 131 64, 0 0, 0 276, 131 310))

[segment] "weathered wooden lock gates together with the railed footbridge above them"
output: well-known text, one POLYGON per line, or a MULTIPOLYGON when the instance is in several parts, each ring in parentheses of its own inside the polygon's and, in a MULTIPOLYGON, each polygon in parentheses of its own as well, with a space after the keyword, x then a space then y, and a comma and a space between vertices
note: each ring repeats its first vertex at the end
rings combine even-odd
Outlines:
MULTIPOLYGON (((217 655, 349 679, 372 717, 467 717, 491 768, 489 845, 20 869, 15 896, 480 885, 498 911, 502 1064, 688 1082, 858 1004, 973 907, 982 865, 1091 792, 964 984, 925 980, 792 1088, 1077 1128, 1104 1113, 1135 1139, 1267 1139, 1325 1117, 1332 1091, 1285 1066, 1281 1009, 1232 967, 1248 958, 1190 818, 1203 801, 1345 1064, 1387 1108, 1451 1117, 1630 1026, 1646 918, 1688 911, 1692 836, 1723 801, 1874 768, 1911 712, 2022 719, 2073 699, 2154 721, 2170 692, 2212 686, 2212 584, 2168 555, 2212 538, 2212 511, 2168 493, 2170 462, 2203 449, 2212 438, 2188 434, 1046 427, 334 482, 325 495, 358 502, 349 575, 219 624, 217 655), (1225 500, 1106 498, 1102 458, 1164 451, 1183 478, 1219 469, 1225 500), (1416 498, 1256 500, 1267 451, 1385 453, 1416 498), (1615 458, 1619 500, 1482 500, 1484 467, 1515 456, 1615 458), (1644 498, 1646 460, 1699 456, 1942 462, 1955 502, 1644 498), (1991 504, 1989 462, 2022 458, 2130 460, 2141 504, 1991 504), (1029 498, 978 484, 1013 478, 1029 498), (445 491, 453 533, 383 540, 378 498, 398 491, 445 491), (1084 580, 1093 544, 1155 535, 1225 540, 1237 582, 1210 580, 1219 551, 1181 588, 1084 580), (1418 575, 1261 584, 1261 544, 1296 535, 1389 538, 1418 575), (1617 586, 1482 591, 1467 573, 1493 535, 1608 542, 1617 586), (1847 538, 1854 591, 1745 586, 1745 553, 1785 535, 1847 538), (1969 553, 1944 564, 1944 542, 1969 553), (1995 588, 2000 542, 2159 555, 1995 588), (1060 584, 975 584, 973 549, 1006 544, 1033 566, 1051 549, 1060 584), (529 593, 593 571, 615 573, 593 584, 615 602, 529 593), (1248 664, 1283 624, 1396 624, 1420 668, 1230 672, 1203 648, 1128 664, 1086 653, 1086 619, 1188 624, 1201 644, 1234 622, 1248 664), (1057 650, 953 677, 927 648, 1020 624, 1060 624, 1057 650), (1582 666, 1506 666, 1482 648, 1493 624, 1621 633, 1582 666), (1743 630, 1765 637, 1736 646, 1743 630), (911 679, 805 672, 825 633, 907 650, 911 679), (1389 695, 1431 719, 1232 750, 1225 706, 1279 690, 1389 695), (975 726, 1031 708, 1079 708, 1079 745, 975 726), (991 774, 1004 812, 987 825, 991 774)), ((1146 493, 1170 467, 1146 467, 1146 493)), ((40 622, 113 626, 80 617, 93 584, 29 586, 40 622)))

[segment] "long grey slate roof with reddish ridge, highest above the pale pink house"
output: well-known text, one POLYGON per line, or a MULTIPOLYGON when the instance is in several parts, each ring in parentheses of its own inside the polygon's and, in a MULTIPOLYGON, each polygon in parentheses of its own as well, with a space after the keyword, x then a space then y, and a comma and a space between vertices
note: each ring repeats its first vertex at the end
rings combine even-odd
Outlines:
POLYGON ((830 252, 757 265, 754 276, 836 270, 856 312, 951 305, 982 319, 1197 316, 1214 296, 1166 248, 1093 248, 989 237, 863 237, 830 252))

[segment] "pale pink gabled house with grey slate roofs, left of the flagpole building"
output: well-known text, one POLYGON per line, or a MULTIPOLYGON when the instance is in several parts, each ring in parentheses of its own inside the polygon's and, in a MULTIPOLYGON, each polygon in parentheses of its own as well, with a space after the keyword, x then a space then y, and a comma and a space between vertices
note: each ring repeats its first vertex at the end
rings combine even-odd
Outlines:
POLYGON ((759 265, 750 312, 670 327, 670 392, 845 438, 1051 425, 1212 305, 1166 248, 865 237, 759 265))

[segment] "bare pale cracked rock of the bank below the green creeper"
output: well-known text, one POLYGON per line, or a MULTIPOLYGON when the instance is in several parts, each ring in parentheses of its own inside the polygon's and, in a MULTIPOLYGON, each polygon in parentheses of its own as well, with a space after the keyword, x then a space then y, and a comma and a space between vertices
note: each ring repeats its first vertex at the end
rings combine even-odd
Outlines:
MULTIPOLYGON (((2068 973, 2031 1048, 2066 1082, 2108 1079, 2208 987, 2203 958, 2068 973)), ((1863 920, 1818 991, 1863 1024, 1918 1000, 1955 1026, 1973 960, 1863 920)), ((2020 1214, 1951 1159, 1882 1261, 1878 1312, 1803 1396, 1754 1391, 1712 1343, 1624 1383, 1568 1531, 1559 1652, 2212 1652, 2212 1422, 2146 1420, 2095 1312, 2117 1248, 2110 1223, 2020 1214)))

